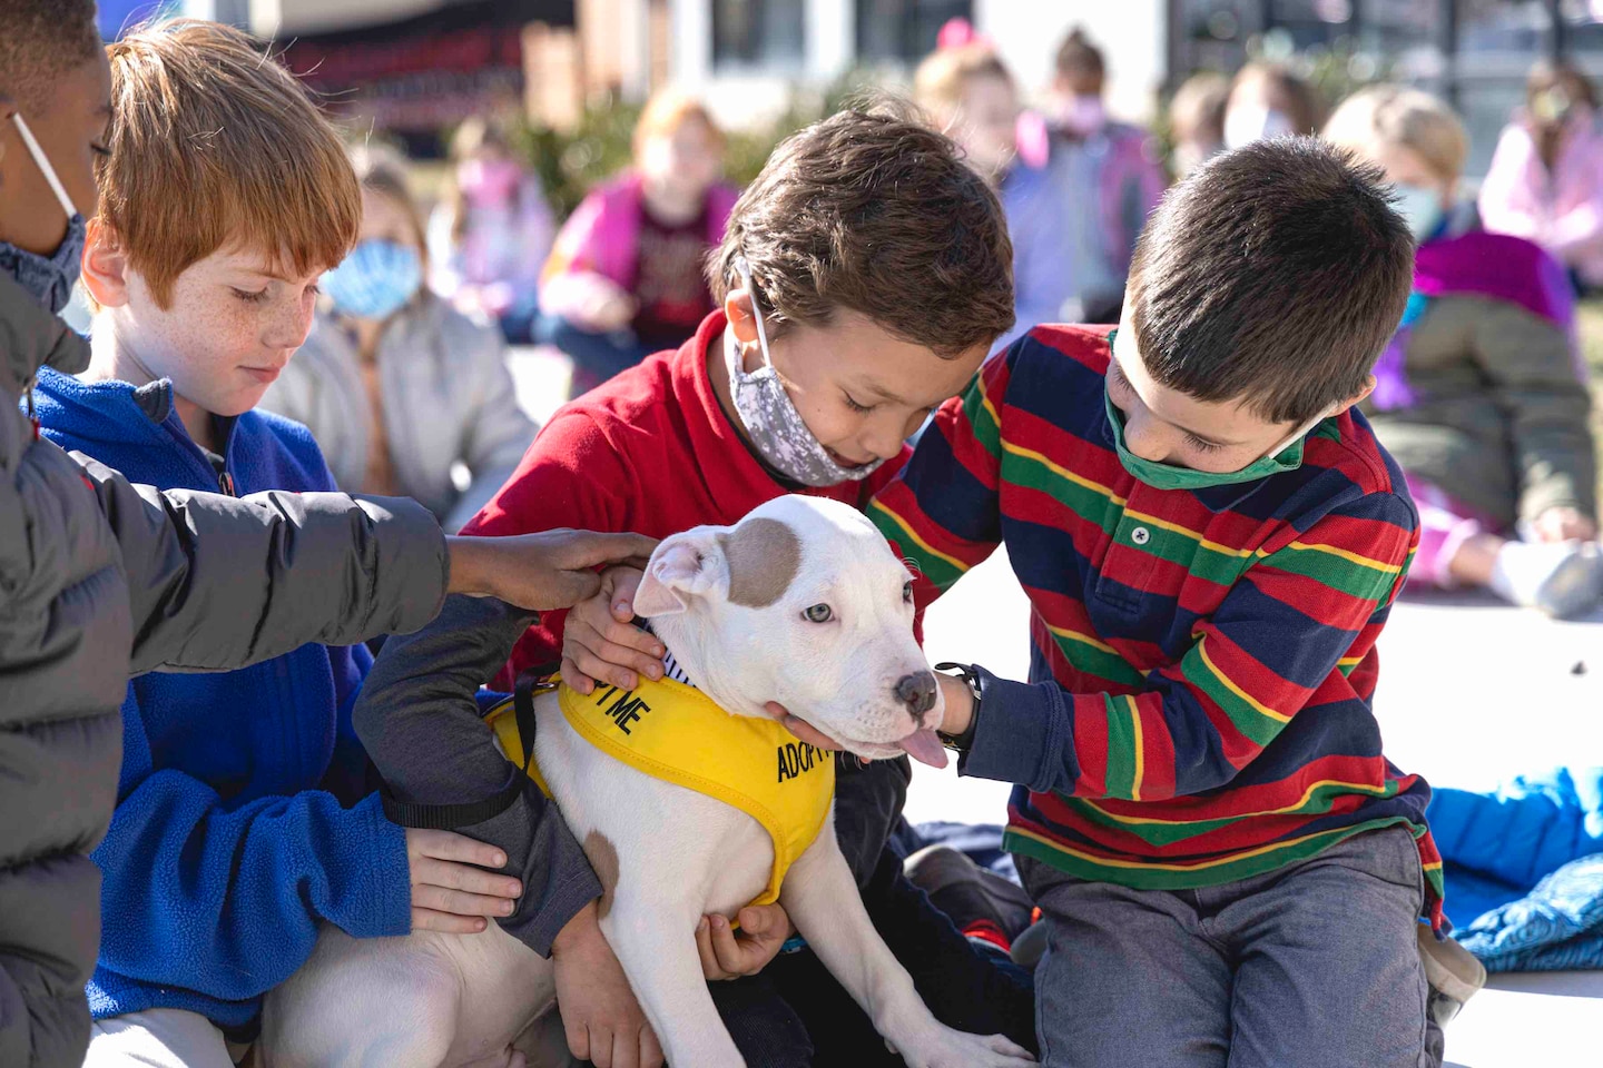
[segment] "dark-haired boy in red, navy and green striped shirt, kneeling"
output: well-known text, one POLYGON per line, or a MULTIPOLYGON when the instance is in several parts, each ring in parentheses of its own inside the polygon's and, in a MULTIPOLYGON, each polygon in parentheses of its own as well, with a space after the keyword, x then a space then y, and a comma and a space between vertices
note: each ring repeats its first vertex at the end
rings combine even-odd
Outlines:
POLYGON ((923 600, 1007 544, 1032 602, 1031 682, 943 676, 941 730, 1018 783, 1048 1065, 1428 1063, 1430 789, 1371 709, 1417 543, 1355 408, 1412 275, 1379 183, 1313 139, 1217 159, 1119 328, 1015 343, 870 509, 923 600))

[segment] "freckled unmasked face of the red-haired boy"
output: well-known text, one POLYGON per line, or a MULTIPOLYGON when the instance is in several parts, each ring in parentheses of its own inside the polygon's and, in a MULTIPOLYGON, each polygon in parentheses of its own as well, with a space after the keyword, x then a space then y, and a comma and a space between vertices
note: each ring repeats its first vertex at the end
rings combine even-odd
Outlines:
POLYGON ((165 309, 130 272, 119 344, 202 410, 248 412, 311 330, 322 267, 295 279, 285 269, 260 251, 218 250, 178 275, 165 309))

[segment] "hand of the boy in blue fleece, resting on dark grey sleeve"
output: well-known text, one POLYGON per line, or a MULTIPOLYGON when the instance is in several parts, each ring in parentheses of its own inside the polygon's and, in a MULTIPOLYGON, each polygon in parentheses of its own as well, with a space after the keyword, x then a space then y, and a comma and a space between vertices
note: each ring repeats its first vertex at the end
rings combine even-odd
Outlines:
POLYGON ((407 828, 412 869, 412 930, 473 935, 487 916, 511 916, 523 884, 486 868, 507 865, 507 853, 454 831, 407 828))

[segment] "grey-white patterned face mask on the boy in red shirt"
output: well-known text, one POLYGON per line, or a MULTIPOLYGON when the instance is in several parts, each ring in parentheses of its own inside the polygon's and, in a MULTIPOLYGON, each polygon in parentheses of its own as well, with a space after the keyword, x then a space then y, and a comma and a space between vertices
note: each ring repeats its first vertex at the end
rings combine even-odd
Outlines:
POLYGON ((745 371, 745 360, 734 333, 725 338, 725 362, 729 368, 729 395, 734 399, 734 412, 745 426, 745 434, 757 452, 774 469, 787 479, 795 479, 802 485, 840 485, 869 477, 883 460, 862 464, 861 468, 842 468, 830 460, 829 452, 806 429, 806 421, 797 412, 785 384, 774 370, 774 360, 768 354, 768 331, 763 327, 763 309, 757 304, 757 287, 752 283, 752 267, 745 256, 734 261, 734 271, 741 275, 747 295, 752 298, 752 317, 757 320, 757 344, 763 351, 763 365, 755 371, 745 371))

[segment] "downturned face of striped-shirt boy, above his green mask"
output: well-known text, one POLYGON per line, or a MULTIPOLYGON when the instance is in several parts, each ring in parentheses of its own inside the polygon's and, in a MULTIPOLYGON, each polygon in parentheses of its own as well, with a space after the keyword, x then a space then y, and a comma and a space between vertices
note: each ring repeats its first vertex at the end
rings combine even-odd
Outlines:
POLYGON ((1137 352, 1129 317, 1119 327, 1108 363, 1108 399, 1124 413, 1125 448, 1143 460, 1193 471, 1241 471, 1297 429, 1290 423, 1266 423, 1239 402, 1197 400, 1153 381, 1137 352))

